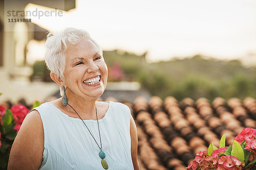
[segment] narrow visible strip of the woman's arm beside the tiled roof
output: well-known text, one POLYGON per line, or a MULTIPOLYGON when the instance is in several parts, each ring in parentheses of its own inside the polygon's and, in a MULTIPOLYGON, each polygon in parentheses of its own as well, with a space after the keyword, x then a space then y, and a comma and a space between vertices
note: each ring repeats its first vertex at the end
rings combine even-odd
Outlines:
POLYGON ((130 134, 131 134, 131 159, 134 165, 134 170, 140 170, 140 165, 138 162, 138 136, 137 136, 137 128, 134 122, 134 119, 131 116, 130 121, 130 134))

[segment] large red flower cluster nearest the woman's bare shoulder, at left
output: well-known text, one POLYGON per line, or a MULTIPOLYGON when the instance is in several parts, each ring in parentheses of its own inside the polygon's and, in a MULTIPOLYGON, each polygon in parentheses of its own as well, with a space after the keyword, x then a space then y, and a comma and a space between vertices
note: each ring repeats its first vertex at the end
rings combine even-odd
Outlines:
POLYGON ((29 113, 29 109, 23 105, 14 105, 12 106, 11 111, 13 118, 18 124, 21 124, 25 119, 26 114, 29 113))

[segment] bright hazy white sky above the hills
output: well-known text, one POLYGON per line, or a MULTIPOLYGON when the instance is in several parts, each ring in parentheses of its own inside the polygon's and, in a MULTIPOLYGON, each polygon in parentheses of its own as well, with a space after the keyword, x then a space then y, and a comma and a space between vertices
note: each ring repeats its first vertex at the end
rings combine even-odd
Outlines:
POLYGON ((49 30, 84 28, 103 50, 148 51, 151 61, 256 58, 256 0, 76 0, 76 7, 32 21, 49 30))

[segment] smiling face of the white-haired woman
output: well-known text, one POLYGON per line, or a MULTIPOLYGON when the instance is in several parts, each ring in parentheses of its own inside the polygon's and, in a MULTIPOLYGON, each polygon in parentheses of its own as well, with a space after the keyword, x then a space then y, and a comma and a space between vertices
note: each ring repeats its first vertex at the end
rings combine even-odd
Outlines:
POLYGON ((68 95, 99 97, 108 79, 108 68, 96 45, 87 39, 67 45, 64 70, 68 95))

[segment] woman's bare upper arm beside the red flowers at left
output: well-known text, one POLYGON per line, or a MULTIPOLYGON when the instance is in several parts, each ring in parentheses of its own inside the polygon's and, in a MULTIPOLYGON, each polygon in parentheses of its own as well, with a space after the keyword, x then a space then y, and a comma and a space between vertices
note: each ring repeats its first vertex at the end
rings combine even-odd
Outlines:
POLYGON ((44 128, 38 111, 24 119, 10 153, 8 170, 38 170, 44 152, 44 128))

